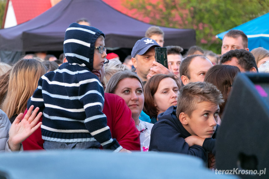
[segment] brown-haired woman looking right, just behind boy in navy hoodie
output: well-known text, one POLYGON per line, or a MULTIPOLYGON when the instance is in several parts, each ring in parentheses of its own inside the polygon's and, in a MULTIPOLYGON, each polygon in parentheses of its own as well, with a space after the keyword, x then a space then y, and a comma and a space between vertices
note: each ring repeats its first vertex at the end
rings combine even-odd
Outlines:
POLYGON ((157 74, 151 77, 145 87, 144 110, 151 117, 151 123, 158 121, 157 116, 170 106, 177 105, 180 84, 174 76, 157 74))

